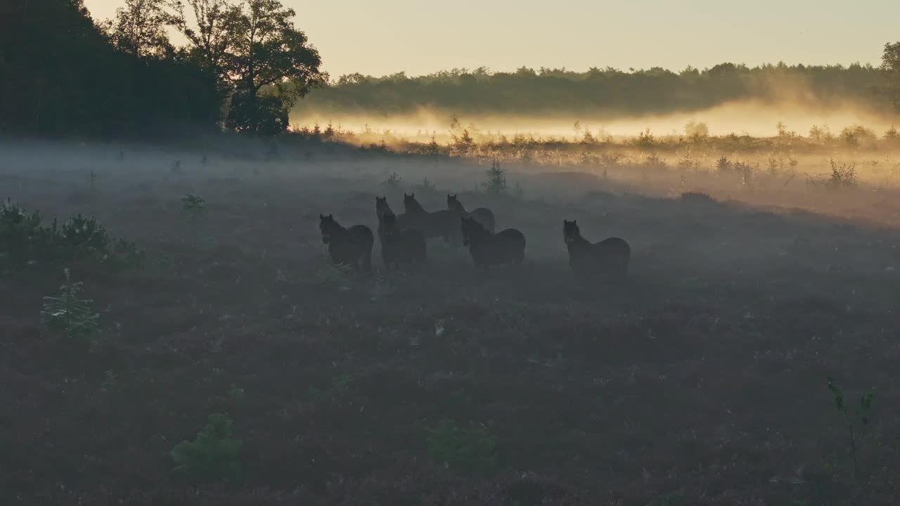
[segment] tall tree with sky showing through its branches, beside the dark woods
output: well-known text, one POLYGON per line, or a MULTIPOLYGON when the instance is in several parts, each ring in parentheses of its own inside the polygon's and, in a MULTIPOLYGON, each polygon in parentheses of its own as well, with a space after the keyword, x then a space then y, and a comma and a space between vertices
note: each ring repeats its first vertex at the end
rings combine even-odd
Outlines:
POLYGON ((191 42, 231 92, 227 125, 273 134, 287 128, 287 112, 327 76, 319 52, 293 25, 296 13, 278 0, 186 0, 170 5, 170 23, 191 42))

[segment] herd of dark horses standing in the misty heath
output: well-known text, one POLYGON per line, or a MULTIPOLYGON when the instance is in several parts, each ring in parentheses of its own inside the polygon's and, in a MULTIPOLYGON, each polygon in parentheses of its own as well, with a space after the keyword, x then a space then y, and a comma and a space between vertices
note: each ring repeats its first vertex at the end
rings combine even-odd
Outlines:
MULTIPOLYGON (((521 264, 525 259, 525 235, 516 229, 495 232, 494 213, 485 207, 467 211, 456 195, 447 195, 445 210, 428 212, 416 194, 403 194, 404 213, 391 210, 386 197, 375 197, 378 239, 385 269, 408 264, 424 264, 428 239, 462 242, 469 248, 475 267, 521 264)), ((319 215, 322 242, 329 246, 331 261, 355 270, 372 271, 375 238, 365 225, 344 227, 334 216, 319 215)), ((601 277, 621 282, 628 274, 631 247, 625 239, 611 237, 596 243, 581 237, 577 221, 563 220, 563 241, 569 251, 569 265, 576 276, 601 277)))

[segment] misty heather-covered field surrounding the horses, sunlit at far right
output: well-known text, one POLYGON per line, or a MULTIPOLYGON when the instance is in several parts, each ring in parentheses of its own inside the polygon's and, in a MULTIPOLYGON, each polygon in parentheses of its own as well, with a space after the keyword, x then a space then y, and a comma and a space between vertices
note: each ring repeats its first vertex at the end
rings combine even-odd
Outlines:
POLYGON ((320 137, 4 149, 0 503, 900 497, 893 140, 320 137), (525 263, 329 265, 320 212, 375 230, 405 191, 525 263), (626 285, 573 278, 575 219, 626 285))

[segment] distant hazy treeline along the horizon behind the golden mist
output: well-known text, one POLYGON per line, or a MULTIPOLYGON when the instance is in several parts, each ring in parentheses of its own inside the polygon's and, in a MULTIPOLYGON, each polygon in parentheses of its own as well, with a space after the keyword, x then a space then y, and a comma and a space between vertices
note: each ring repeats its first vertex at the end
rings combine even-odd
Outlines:
POLYGON ((815 104, 852 100, 877 104, 882 70, 870 65, 807 67, 785 64, 748 68, 621 71, 590 68, 485 68, 428 76, 352 74, 313 91, 293 113, 404 114, 422 108, 452 113, 617 116, 694 111, 726 102, 759 99, 815 104))

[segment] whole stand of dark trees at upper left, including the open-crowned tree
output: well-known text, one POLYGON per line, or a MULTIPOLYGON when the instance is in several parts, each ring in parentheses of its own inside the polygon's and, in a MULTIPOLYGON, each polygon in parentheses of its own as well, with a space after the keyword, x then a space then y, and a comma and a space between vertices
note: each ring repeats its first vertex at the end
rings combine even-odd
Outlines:
POLYGON ((293 104, 327 78, 294 15, 278 0, 125 0, 94 23, 82 0, 5 0, 0 131, 284 131, 293 104))

